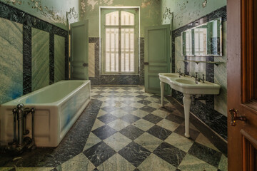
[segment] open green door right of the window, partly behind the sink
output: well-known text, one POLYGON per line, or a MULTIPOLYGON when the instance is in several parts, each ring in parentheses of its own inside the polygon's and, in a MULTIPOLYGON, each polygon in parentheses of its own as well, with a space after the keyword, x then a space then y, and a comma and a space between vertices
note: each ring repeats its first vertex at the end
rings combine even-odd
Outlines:
MULTIPOLYGON (((170 73, 170 25, 152 26, 145 29, 145 91, 161 93, 158 73, 170 73)), ((168 88, 165 88, 168 93, 168 88)))

